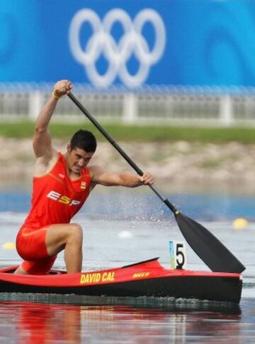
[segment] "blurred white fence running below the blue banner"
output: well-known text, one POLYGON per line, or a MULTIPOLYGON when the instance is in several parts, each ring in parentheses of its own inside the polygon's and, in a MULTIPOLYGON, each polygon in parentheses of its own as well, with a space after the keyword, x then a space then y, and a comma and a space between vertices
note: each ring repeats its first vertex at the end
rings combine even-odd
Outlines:
MULTIPOLYGON (((34 120, 52 85, 0 84, 0 120, 34 120)), ((255 125, 254 89, 224 90, 154 87, 129 92, 95 91, 76 85, 74 94, 101 121, 231 126, 255 125)), ((79 121, 81 112, 68 97, 59 101, 55 120, 79 121)))

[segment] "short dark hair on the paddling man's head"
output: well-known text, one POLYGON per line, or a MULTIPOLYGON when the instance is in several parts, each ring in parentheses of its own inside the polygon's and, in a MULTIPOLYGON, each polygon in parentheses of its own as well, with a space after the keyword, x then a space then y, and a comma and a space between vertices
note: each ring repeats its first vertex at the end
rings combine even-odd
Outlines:
POLYGON ((71 138, 71 150, 81 148, 86 152, 96 152, 96 138, 91 131, 80 129, 71 138))

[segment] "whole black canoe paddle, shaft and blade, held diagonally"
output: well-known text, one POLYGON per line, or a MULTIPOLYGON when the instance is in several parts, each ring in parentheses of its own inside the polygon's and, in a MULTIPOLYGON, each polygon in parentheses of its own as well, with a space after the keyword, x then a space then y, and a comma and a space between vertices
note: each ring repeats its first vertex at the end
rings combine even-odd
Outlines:
MULTIPOLYGON (((79 100, 70 92, 68 94, 69 98, 72 99, 74 104, 78 106, 81 112, 89 118, 89 120, 98 128, 105 138, 113 145, 113 147, 118 150, 120 155, 132 166, 132 168, 142 176, 143 172, 140 168, 133 162, 130 157, 124 152, 120 146, 115 143, 113 138, 102 128, 102 126, 96 121, 96 119, 91 116, 89 111, 79 102, 79 100)), ((225 248, 220 240, 215 238, 212 233, 210 233, 205 227, 200 225, 200 223, 194 221, 192 218, 183 215, 176 207, 171 204, 171 202, 166 199, 166 197, 159 192, 157 187, 149 185, 152 191, 159 196, 166 206, 174 213, 176 222, 179 225, 181 233, 183 233, 184 238, 186 238, 188 244, 193 248, 196 254, 205 262, 208 267, 214 272, 236 272, 241 273, 245 270, 244 265, 242 265, 239 260, 237 260, 232 253, 225 248)))

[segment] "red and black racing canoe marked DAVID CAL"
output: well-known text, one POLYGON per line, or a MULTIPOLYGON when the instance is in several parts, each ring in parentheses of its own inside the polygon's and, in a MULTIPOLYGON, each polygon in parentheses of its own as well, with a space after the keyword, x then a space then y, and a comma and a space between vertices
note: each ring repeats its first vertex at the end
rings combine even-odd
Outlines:
POLYGON ((67 274, 13 274, 0 270, 0 293, 77 294, 86 296, 155 296, 238 304, 242 274, 166 269, 159 258, 108 270, 67 274))

